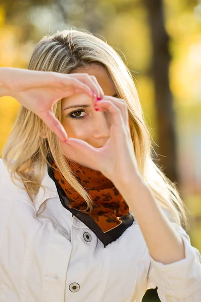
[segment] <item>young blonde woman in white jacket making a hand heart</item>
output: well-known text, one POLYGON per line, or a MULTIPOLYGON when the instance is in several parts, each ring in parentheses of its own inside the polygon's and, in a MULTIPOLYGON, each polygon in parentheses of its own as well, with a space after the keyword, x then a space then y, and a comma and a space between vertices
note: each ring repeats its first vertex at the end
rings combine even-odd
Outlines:
POLYGON ((198 302, 201 265, 174 184, 152 161, 127 66, 85 31, 45 36, 0 161, 0 301, 198 302))

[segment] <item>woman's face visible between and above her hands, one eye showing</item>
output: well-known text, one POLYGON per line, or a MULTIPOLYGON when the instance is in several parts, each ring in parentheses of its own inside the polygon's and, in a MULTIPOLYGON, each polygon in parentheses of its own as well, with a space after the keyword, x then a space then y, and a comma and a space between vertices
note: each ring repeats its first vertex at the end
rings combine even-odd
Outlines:
MULTIPOLYGON (((117 97, 110 75, 104 67, 93 65, 78 72, 94 75, 105 96, 117 97)), ((102 147, 110 136, 108 113, 95 111, 93 100, 86 94, 74 94, 62 99, 62 125, 69 138, 82 139, 93 147, 102 147)), ((64 145, 63 150, 65 153, 64 145)))

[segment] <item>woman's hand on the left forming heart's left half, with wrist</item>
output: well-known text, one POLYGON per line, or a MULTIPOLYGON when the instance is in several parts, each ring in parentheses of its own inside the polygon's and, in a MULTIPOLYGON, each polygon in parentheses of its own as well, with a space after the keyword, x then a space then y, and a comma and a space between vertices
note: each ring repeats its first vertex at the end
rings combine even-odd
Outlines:
POLYGON ((12 67, 0 68, 0 89, 3 95, 14 97, 38 115, 63 142, 67 133, 53 113, 53 104, 78 93, 91 98, 104 97, 96 78, 87 73, 64 74, 12 67))

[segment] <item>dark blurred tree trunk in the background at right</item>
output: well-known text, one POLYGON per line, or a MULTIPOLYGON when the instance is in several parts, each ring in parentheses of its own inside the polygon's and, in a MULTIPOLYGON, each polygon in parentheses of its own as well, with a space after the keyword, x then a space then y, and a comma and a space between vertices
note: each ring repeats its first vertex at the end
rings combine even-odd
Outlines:
POLYGON ((148 12, 153 47, 151 74, 155 89, 157 144, 159 145, 159 147, 154 146, 154 149, 160 157, 154 160, 162 167, 166 176, 177 183, 173 98, 169 88, 171 57, 168 50, 169 37, 164 28, 163 2, 162 0, 143 1, 148 12))

